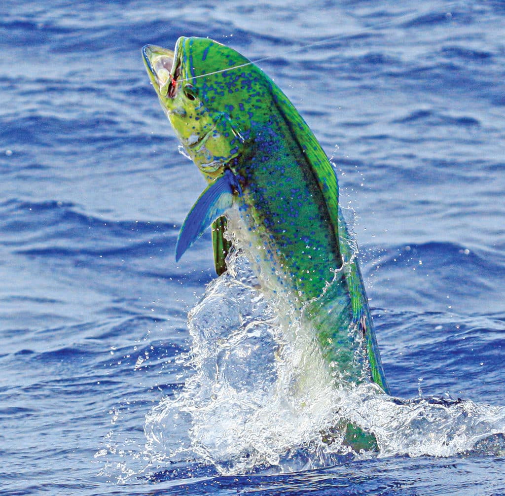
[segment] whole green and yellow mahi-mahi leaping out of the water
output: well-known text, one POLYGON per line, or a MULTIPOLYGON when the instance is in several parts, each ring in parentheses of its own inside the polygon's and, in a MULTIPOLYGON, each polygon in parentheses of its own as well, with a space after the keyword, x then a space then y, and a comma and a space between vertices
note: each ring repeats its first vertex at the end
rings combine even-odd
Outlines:
POLYGON ((259 277, 293 295, 335 380, 372 381, 389 393, 337 178, 304 119, 259 67, 221 43, 180 37, 174 52, 146 45, 142 54, 163 110, 208 182, 181 228, 176 259, 212 226, 223 273, 235 209, 259 277))

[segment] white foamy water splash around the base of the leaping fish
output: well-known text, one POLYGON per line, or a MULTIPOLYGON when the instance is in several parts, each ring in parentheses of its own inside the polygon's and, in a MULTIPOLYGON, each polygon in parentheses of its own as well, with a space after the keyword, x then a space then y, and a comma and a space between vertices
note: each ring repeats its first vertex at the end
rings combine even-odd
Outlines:
POLYGON ((311 330, 289 297, 260 288, 245 246, 188 315, 193 375, 146 417, 157 460, 197 460, 219 473, 285 472, 353 458, 451 456, 480 441, 502 453, 505 409, 440 398, 401 400, 375 384, 334 386, 311 330), (282 307, 282 305, 284 305, 282 307), (282 311, 279 309, 282 308, 282 311), (347 422, 372 431, 378 452, 342 442, 347 422), (340 429, 339 429, 340 427, 340 429))

